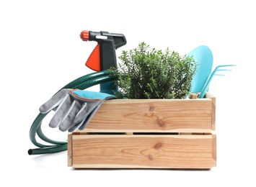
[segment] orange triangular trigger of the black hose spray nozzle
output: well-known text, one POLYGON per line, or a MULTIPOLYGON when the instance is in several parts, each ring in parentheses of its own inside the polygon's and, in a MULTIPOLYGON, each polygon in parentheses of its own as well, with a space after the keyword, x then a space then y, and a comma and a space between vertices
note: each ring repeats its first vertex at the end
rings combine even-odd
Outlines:
POLYGON ((92 51, 91 55, 89 55, 89 58, 87 60, 87 63, 85 65, 96 71, 100 71, 100 45, 96 45, 94 50, 92 51))

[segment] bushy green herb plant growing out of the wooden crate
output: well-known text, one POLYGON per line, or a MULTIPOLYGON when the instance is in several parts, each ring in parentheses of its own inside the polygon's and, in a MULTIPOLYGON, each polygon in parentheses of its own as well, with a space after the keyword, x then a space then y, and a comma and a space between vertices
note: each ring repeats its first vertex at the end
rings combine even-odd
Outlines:
POLYGON ((141 42, 133 50, 123 50, 119 59, 118 68, 110 69, 118 76, 118 98, 185 99, 190 93, 197 65, 192 57, 141 42))

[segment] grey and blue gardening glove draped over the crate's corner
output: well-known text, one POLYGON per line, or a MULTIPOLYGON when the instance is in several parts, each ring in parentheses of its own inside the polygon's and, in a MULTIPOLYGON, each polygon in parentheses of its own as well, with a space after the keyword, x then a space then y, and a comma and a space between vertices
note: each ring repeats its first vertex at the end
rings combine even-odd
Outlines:
POLYGON ((75 132, 84 129, 106 99, 116 99, 108 93, 62 89, 50 100, 40 106, 40 112, 46 114, 55 111, 49 126, 58 127, 62 132, 75 132))

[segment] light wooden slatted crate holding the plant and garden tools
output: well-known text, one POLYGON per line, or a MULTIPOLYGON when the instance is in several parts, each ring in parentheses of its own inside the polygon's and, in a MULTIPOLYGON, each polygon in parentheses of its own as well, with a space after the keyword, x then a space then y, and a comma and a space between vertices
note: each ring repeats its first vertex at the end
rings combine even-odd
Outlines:
POLYGON ((113 99, 69 134, 73 168, 216 167, 216 99, 113 99))

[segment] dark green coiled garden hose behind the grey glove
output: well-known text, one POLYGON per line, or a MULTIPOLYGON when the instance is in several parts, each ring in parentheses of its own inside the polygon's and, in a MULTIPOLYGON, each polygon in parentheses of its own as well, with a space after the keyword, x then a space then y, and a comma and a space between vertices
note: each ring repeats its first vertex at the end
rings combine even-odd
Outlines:
MULTIPOLYGON (((90 73, 85 76, 76 78, 74 81, 71 81, 66 86, 63 86, 63 88, 72 88, 72 89, 78 88, 80 90, 84 90, 86 88, 95 86, 100 83, 115 81, 116 78, 117 77, 113 76, 110 73, 110 71, 102 70, 100 72, 90 73)), ((61 89, 59 91, 61 91, 61 89)), ((30 140, 35 146, 39 148, 28 150, 29 155, 41 155, 41 154, 61 152, 61 151, 67 150, 68 142, 59 142, 56 140, 51 140, 50 138, 46 137, 45 134, 43 134, 43 131, 41 129, 41 124, 47 114, 42 114, 42 113, 38 114, 30 127, 30 140), (38 137, 40 137, 41 140, 48 142, 51 145, 43 145, 37 142, 36 134, 38 137)))

